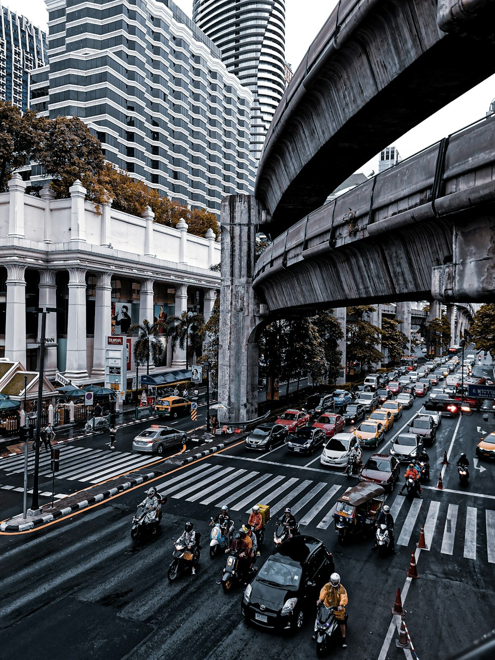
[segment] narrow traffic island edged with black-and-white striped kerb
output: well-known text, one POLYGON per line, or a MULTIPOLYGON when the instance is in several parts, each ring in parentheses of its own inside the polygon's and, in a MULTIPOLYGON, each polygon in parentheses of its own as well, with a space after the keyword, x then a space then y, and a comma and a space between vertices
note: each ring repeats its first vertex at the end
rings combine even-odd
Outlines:
MULTIPOLYGON (((247 432, 244 432, 241 434, 232 433, 210 437, 205 434, 204 430, 202 431, 203 433, 199 436, 198 442, 194 447, 187 449, 187 451, 184 451, 183 453, 178 453, 169 459, 166 459, 164 462, 160 462, 160 468, 164 469, 154 469, 154 471, 147 473, 136 471, 124 475, 123 477, 110 479, 102 484, 96 484, 96 486, 90 486, 90 488, 84 488, 84 490, 74 493, 73 495, 69 495, 66 498, 57 500, 57 502, 53 502, 53 507, 51 506, 51 502, 49 502, 49 504, 44 504, 38 515, 28 515, 26 519, 24 519, 22 513, 20 513, 9 520, 3 521, 3 523, 0 524, 0 532, 16 533, 41 527, 53 520, 61 519, 74 512, 81 511, 92 504, 104 502, 104 500, 108 500, 125 490, 129 490, 129 488, 133 488, 133 486, 154 479, 154 477, 160 477, 160 475, 168 472, 169 469, 182 467, 182 465, 192 463, 192 461, 202 458, 203 456, 208 456, 216 451, 220 451, 220 449, 224 449, 236 442, 240 442, 240 440, 248 435, 247 432)), ((189 440, 189 442, 191 441, 189 440)))

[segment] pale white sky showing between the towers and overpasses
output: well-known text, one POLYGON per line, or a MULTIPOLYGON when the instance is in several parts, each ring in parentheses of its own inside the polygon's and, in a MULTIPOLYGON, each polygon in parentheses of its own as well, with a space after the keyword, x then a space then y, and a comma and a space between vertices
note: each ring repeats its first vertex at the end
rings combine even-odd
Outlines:
MULTIPOLYGON (((191 16, 192 0, 174 0, 185 13, 191 16)), ((0 5, 22 14, 34 24, 46 30, 48 13, 44 0, 0 0, 0 5)), ((286 14, 286 61, 295 71, 310 47, 337 0, 285 0, 286 14)), ((464 126, 484 117, 495 98, 495 75, 481 82, 451 104, 439 110, 394 143, 402 158, 408 158, 434 142, 454 133, 464 126)), ((388 147, 389 145, 383 145, 388 147)), ((378 172, 378 156, 359 169, 368 176, 378 172)))

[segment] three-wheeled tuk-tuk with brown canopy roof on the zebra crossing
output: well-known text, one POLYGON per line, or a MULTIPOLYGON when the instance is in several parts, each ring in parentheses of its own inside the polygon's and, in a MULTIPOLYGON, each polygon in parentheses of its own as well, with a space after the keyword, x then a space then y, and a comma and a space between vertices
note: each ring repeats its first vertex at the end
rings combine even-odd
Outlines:
POLYGON ((349 488, 335 504, 335 531, 339 533, 339 543, 343 544, 350 536, 363 537, 374 533, 375 519, 383 506, 385 490, 378 484, 360 482, 349 488))

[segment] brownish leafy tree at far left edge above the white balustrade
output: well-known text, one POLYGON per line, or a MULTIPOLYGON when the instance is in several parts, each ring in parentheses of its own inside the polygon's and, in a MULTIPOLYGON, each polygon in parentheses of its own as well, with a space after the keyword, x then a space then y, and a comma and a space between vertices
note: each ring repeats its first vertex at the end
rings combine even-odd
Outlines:
POLYGON ((13 172, 28 162, 40 140, 45 119, 9 103, 0 102, 0 193, 8 190, 13 172))

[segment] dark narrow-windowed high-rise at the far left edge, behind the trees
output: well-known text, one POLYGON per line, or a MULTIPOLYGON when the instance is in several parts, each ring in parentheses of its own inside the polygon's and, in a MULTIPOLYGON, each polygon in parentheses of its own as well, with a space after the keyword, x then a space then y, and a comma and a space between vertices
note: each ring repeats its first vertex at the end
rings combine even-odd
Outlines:
POLYGON ((46 63, 46 34, 0 0, 0 101, 24 112, 29 106, 30 71, 46 63))

